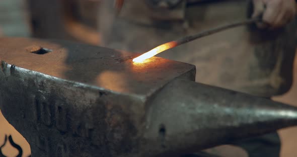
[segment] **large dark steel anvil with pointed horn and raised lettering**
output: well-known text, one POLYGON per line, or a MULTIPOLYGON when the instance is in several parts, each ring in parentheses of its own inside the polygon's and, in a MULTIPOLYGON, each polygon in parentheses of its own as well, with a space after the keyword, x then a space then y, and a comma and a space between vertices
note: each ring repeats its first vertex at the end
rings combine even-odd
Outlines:
POLYGON ((0 108, 32 156, 178 156, 297 124, 295 107, 195 83, 195 66, 0 38, 0 108))

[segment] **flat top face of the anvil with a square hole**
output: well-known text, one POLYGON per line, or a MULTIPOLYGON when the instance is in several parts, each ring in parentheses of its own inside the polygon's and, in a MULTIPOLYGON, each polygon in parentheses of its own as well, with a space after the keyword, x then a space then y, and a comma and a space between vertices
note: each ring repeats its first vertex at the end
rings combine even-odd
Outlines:
POLYGON ((8 64, 117 93, 149 96, 176 77, 195 80, 194 65, 158 57, 135 64, 137 55, 65 41, 0 39, 0 60, 8 64))

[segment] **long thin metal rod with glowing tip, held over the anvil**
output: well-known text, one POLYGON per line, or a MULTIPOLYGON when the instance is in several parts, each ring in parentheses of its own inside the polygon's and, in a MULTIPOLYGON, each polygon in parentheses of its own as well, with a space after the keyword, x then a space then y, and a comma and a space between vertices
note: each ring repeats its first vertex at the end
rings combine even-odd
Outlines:
POLYGON ((159 53, 161 53, 163 51, 166 51, 166 50, 168 50, 170 48, 174 48, 176 46, 188 43, 188 42, 193 41, 195 39, 205 37, 205 36, 220 32, 220 31, 224 31, 226 29, 230 29, 230 28, 234 28, 234 27, 238 27, 238 26, 242 26, 242 25, 248 25, 248 24, 252 24, 252 23, 260 22, 260 21, 261 21, 260 19, 249 19, 249 20, 232 23, 232 24, 225 25, 225 26, 220 26, 220 27, 217 27, 217 28, 214 28, 214 29, 211 29, 211 30, 207 30, 207 31, 198 33, 198 34, 186 36, 186 37, 183 37, 183 38, 175 40, 175 41, 170 41, 170 42, 167 42, 167 43, 162 44, 160 46, 157 46, 156 48, 154 48, 154 49, 152 49, 150 51, 147 51, 147 52, 143 53, 142 55, 134 58, 133 62, 141 63, 145 59, 151 58, 151 57, 153 57, 153 56, 155 56, 155 55, 157 55, 157 54, 159 54, 159 53))

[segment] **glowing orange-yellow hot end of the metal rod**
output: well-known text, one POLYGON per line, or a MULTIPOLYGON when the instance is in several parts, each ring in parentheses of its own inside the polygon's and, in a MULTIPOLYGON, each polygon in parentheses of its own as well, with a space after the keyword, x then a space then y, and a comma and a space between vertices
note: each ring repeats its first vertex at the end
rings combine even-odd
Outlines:
POLYGON ((162 44, 162 45, 155 47, 154 49, 147 51, 147 52, 141 54, 140 56, 134 58, 133 62, 142 63, 145 59, 151 58, 151 57, 157 55, 158 53, 161 53, 165 50, 175 47, 176 45, 177 45, 177 43, 175 41, 171 41, 171 42, 162 44))

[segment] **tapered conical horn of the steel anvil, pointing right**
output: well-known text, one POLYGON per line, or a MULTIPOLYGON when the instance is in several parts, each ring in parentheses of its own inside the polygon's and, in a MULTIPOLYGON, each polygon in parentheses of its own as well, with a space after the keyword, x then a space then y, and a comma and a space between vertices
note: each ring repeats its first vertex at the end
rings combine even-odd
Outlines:
POLYGON ((163 155, 230 144, 297 124, 293 106, 187 80, 169 83, 151 109, 145 137, 153 139, 153 152, 163 155))

